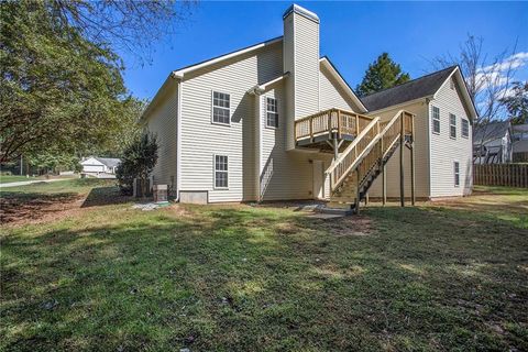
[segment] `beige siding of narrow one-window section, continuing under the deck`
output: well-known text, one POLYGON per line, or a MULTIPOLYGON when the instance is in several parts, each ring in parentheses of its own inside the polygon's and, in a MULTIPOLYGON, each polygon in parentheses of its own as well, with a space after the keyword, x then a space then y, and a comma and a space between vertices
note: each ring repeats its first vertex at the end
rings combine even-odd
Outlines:
POLYGON ((277 85, 261 96, 261 196, 262 200, 312 198, 312 164, 307 154, 286 152, 284 88, 277 85), (278 128, 266 125, 266 100, 277 99, 278 128))

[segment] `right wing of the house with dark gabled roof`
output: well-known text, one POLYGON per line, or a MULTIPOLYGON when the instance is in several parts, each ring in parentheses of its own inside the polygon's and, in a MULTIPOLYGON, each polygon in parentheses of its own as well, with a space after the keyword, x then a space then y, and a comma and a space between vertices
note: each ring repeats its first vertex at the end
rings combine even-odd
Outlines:
MULTIPOLYGON (((437 198, 469 195, 472 189, 472 121, 476 118, 473 101, 458 66, 426 75, 397 87, 362 98, 369 114, 392 118, 406 110, 415 118, 416 196, 437 198)), ((405 169, 410 168, 406 150, 405 169)), ((388 197, 396 197, 399 166, 392 158, 387 166, 388 197)), ((374 183, 371 196, 381 195, 374 183)), ((405 184, 410 194, 410 177, 405 184)))

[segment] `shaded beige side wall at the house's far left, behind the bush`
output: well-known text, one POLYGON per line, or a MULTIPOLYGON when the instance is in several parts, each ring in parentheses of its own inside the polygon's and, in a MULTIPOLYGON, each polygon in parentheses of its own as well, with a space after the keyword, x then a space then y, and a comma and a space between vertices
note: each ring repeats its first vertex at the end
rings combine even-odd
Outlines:
POLYGON ((177 180, 177 88, 176 84, 172 84, 162 101, 147 117, 147 129, 157 136, 160 145, 157 163, 152 172, 154 184, 168 185, 173 195, 177 180))

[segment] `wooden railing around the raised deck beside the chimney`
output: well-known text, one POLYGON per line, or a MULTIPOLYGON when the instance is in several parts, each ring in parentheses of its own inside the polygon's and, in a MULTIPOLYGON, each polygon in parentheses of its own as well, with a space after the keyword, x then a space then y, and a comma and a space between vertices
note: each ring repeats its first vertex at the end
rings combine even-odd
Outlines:
POLYGON ((326 133, 358 135, 373 118, 345 111, 329 109, 295 121, 295 141, 312 139, 326 133))

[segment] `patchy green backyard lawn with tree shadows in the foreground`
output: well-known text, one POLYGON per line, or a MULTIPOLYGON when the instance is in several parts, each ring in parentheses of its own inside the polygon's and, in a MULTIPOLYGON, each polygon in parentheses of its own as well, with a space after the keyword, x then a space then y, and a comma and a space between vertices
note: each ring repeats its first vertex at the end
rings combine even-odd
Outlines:
POLYGON ((90 201, 1 229, 0 350, 528 350, 526 189, 324 221, 90 182, 1 193, 90 201))

